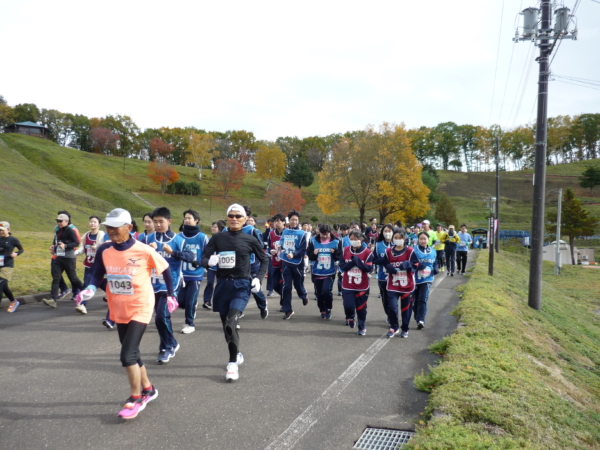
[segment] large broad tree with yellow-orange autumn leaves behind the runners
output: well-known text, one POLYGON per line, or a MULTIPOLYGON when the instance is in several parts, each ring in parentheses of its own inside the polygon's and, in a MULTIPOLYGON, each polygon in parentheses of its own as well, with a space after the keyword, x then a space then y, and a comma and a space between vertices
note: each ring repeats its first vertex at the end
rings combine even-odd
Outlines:
POLYGON ((369 209, 379 211, 381 222, 420 215, 429 194, 421 170, 403 125, 367 128, 333 148, 319 173, 317 203, 325 214, 336 203, 355 206, 361 221, 369 209))

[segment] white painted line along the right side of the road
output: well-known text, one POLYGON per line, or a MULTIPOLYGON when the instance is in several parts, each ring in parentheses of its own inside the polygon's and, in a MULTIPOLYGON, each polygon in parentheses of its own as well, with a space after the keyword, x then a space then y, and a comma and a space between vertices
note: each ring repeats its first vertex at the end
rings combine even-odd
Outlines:
MULTIPOLYGON (((431 292, 444 280, 439 276, 431 286, 431 292)), ((360 355, 350 366, 335 380, 321 396, 300 414, 292 424, 269 444, 265 450, 283 450, 293 448, 300 439, 316 424, 327 412, 331 403, 348 387, 369 362, 387 344, 389 339, 385 334, 377 339, 365 352, 360 355)))

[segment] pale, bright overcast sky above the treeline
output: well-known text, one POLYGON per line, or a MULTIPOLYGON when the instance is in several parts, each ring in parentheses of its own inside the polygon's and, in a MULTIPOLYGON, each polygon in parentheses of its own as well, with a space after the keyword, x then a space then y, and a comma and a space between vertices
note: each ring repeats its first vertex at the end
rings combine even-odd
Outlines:
MULTIPOLYGON (((600 1, 555 51, 550 116, 600 113, 600 1), (571 80, 572 81, 572 80, 571 80)), ((144 128, 324 136, 404 123, 535 121, 539 54, 514 43, 526 0, 0 0, 9 105, 144 128)), ((538 2, 539 7, 539 2, 538 2)), ((571 27, 572 28, 572 27, 571 27)))

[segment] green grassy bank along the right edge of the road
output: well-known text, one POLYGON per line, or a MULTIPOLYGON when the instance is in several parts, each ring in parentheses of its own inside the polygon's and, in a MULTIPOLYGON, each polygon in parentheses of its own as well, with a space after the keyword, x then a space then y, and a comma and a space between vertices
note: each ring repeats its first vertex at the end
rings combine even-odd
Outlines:
POLYGON ((600 272, 544 264, 541 311, 527 306, 526 257, 479 253, 434 344, 442 361, 415 378, 431 392, 414 449, 600 448, 600 272), (434 414, 435 412, 435 414, 434 414))

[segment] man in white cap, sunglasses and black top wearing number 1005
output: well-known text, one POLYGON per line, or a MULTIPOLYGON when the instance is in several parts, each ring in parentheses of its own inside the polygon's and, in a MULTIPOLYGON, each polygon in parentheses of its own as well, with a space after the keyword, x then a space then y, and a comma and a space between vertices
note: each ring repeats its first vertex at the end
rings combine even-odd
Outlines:
POLYGON ((227 208, 227 231, 214 234, 202 254, 203 267, 218 266, 213 311, 221 316, 225 342, 229 349, 229 363, 225 375, 227 381, 239 378, 238 366, 244 362, 239 348, 238 318, 248 304, 250 292, 260 290, 260 282, 267 273, 269 264, 261 243, 242 231, 245 223, 244 207, 234 203, 227 208), (260 269, 255 278, 251 278, 252 254, 260 261, 260 269))

